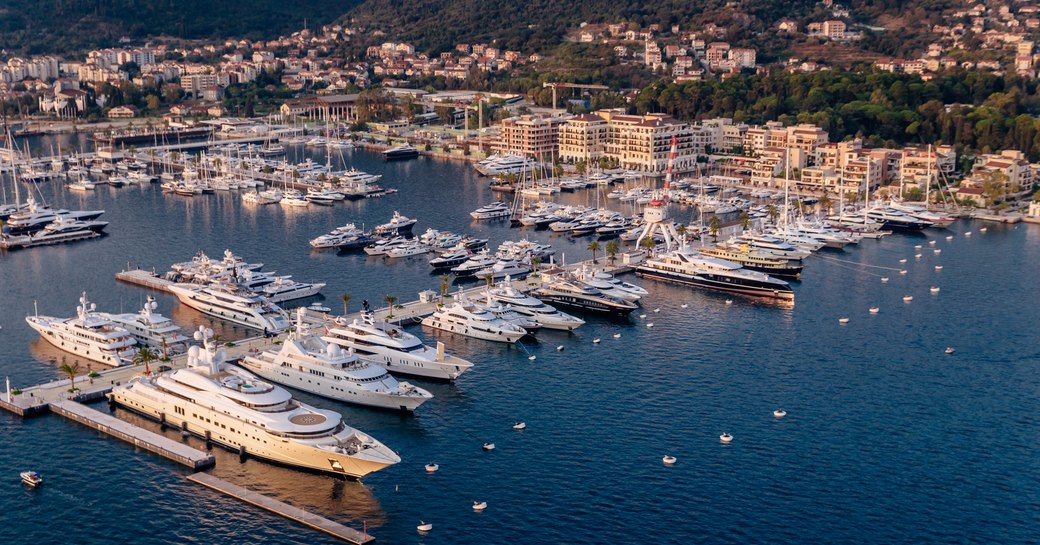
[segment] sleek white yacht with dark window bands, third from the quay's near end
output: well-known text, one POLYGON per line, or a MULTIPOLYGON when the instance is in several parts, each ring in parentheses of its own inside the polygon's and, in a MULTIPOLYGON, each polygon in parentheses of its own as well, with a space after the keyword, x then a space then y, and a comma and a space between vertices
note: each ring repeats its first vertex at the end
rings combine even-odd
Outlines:
POLYGON ((349 323, 335 320, 321 338, 394 373, 453 381, 473 366, 445 354, 444 343, 438 342, 437 348, 432 348, 398 326, 376 320, 371 312, 362 313, 360 320, 355 318, 349 323))

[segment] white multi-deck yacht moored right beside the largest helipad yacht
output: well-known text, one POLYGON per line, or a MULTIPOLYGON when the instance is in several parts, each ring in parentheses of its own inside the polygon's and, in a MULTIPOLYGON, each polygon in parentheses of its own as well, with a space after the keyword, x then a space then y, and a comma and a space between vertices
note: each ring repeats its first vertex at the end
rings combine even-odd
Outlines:
POLYGON ((284 386, 350 404, 415 411, 433 394, 409 383, 398 383, 386 369, 359 360, 352 351, 321 337, 305 336, 304 310, 296 329, 281 346, 250 354, 238 365, 284 386))

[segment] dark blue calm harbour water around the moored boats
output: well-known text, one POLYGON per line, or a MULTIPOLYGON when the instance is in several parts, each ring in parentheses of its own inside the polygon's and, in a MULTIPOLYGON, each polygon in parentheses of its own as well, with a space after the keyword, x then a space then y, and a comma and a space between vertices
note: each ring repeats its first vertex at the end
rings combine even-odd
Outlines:
MULTIPOLYGON (((147 291, 113 279, 128 262, 164 270, 200 249, 231 248, 265 270, 328 282, 334 309, 349 292, 357 309, 388 293, 414 299, 439 280, 421 258, 311 252, 309 238, 346 222, 383 223, 393 210, 418 217, 417 232, 465 231, 493 243, 519 235, 470 222, 468 212, 494 197, 468 166, 385 164, 360 151, 347 161, 400 192, 286 210, 243 207, 234 193, 164 197, 157 185, 85 196, 45 187, 56 205, 107 210, 109 235, 0 254, 3 373, 16 386, 57 377, 60 353, 22 319, 33 301, 41 313, 71 315, 85 289, 99 309, 136 310, 147 291)), ((594 193, 565 199, 595 204, 594 193)), ((592 318, 573 334, 539 333, 541 342, 527 345, 536 361, 515 346, 441 337, 476 366, 454 385, 422 383, 436 398, 415 416, 300 394, 397 449, 400 464, 344 483, 215 449, 213 472, 367 524, 381 543, 1030 542, 1040 527, 1040 295, 1026 271, 1040 266, 1040 228, 980 227, 961 222, 950 241, 945 232, 893 235, 813 257, 794 309, 726 305, 725 296, 640 281, 651 291, 643 311, 622 322, 592 318), (904 304, 905 294, 913 302, 904 304), (875 305, 881 312, 869 315, 875 305), (842 316, 850 323, 839 325, 842 316), (944 355, 947 345, 957 353, 944 355), (776 419, 780 407, 788 415, 776 419), (516 420, 527 430, 513 431, 516 420), (719 443, 722 432, 732 444, 719 443), (498 448, 482 451, 486 441, 498 448), (666 453, 678 458, 674 467, 660 463, 666 453), (425 474, 427 462, 441 471, 425 474), (473 499, 488 510, 472 512, 473 499), (415 531, 420 519, 434 523, 431 534, 415 531)), ((531 237, 568 258, 588 256, 588 239, 531 237)), ((209 323, 172 296, 158 300, 186 327, 209 323)), ((2 414, 0 429, 4 542, 338 543, 61 418, 2 414), (19 486, 27 468, 45 474, 44 488, 19 486)))

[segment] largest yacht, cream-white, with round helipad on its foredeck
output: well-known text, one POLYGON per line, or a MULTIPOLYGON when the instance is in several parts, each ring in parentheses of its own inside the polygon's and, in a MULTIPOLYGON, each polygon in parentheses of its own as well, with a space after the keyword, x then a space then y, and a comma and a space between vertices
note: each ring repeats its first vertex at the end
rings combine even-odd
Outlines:
POLYGON ((337 475, 363 477, 400 457, 335 412, 292 398, 284 388, 228 365, 212 331, 196 333, 188 366, 116 386, 120 406, 205 437, 242 455, 337 475))

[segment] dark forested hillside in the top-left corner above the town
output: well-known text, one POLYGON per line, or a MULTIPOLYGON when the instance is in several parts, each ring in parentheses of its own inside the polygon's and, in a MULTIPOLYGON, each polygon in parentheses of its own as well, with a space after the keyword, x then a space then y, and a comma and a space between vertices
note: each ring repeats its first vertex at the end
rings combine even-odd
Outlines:
POLYGON ((5 0, 0 49, 64 53, 141 38, 269 38, 329 23, 358 0, 5 0))

